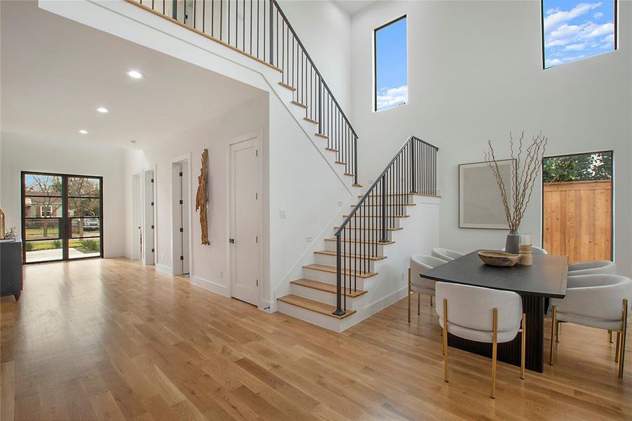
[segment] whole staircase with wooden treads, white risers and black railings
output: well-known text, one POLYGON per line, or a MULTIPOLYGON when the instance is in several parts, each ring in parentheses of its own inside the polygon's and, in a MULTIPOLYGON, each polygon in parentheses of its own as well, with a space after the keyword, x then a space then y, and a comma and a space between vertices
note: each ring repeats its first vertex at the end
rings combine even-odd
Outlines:
POLYGON ((438 148, 411 136, 362 193, 358 135, 276 0, 126 1, 276 69, 275 91, 358 196, 278 310, 339 332, 405 297, 408 256, 433 245, 417 233, 436 232, 423 224, 438 215, 438 148))

